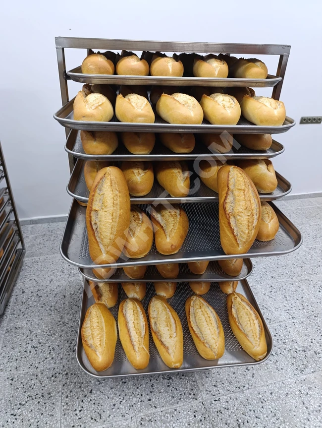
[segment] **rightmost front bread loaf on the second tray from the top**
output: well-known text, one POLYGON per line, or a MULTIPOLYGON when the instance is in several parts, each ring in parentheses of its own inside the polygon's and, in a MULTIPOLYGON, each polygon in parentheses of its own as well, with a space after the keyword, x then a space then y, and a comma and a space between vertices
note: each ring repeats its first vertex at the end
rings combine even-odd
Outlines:
POLYGON ((245 119, 260 126, 280 126, 286 117, 284 103, 273 98, 245 95, 240 108, 245 119))

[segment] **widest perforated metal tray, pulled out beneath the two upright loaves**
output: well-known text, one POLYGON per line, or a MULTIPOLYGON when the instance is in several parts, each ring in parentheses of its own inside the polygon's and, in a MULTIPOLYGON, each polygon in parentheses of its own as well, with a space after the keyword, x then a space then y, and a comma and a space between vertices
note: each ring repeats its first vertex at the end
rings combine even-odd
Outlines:
MULTIPOLYGON (((88 251, 86 207, 79 205, 74 199, 63 232, 60 252, 68 263, 88 269, 287 254, 302 244, 302 236, 285 215, 274 204, 271 202, 270 204, 277 214, 279 231, 272 241, 265 243, 256 240, 247 253, 227 255, 223 252, 219 238, 217 202, 193 203, 183 206, 189 219, 189 232, 181 249, 176 254, 162 255, 153 243, 151 250, 145 257, 133 259, 121 254, 116 263, 97 265, 91 260, 88 251)), ((140 205, 140 207, 149 215, 150 205, 140 205)))

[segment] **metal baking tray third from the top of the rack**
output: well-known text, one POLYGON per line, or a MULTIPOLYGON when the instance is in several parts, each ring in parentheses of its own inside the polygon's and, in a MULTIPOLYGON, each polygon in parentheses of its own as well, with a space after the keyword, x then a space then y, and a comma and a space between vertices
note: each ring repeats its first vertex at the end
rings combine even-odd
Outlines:
POLYGON ((167 147, 158 141, 158 134, 156 144, 149 155, 134 155, 130 153, 127 148, 122 144, 119 138, 119 145, 111 155, 88 155, 84 152, 82 141, 80 139, 80 131, 71 129, 69 132, 65 150, 75 158, 84 159, 87 161, 160 161, 160 160, 194 160, 199 158, 215 158, 215 159, 269 159, 283 153, 284 146, 277 141, 273 140, 272 145, 268 150, 256 151, 247 149, 247 147, 240 146, 239 148, 233 147, 228 153, 212 153, 201 141, 199 141, 198 134, 196 135, 196 145, 191 153, 173 153, 167 147))

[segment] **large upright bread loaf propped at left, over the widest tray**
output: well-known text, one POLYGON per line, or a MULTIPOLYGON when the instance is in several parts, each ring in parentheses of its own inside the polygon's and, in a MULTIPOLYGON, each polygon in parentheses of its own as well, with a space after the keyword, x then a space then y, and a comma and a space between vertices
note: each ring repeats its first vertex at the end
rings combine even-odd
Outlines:
POLYGON ((86 209, 89 252, 97 264, 120 256, 130 225, 130 195, 124 174, 107 167, 95 177, 86 209))

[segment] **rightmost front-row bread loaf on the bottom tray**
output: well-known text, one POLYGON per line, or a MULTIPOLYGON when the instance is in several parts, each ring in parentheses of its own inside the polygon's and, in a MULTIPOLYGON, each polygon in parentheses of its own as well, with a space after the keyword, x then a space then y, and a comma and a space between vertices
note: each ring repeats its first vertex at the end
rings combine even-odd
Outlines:
POLYGON ((261 317, 239 293, 227 296, 229 324, 244 351, 254 360, 260 361, 267 354, 265 331, 261 317))

